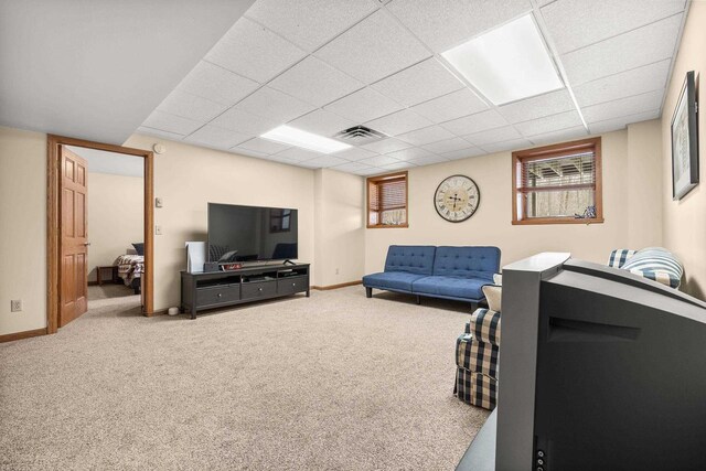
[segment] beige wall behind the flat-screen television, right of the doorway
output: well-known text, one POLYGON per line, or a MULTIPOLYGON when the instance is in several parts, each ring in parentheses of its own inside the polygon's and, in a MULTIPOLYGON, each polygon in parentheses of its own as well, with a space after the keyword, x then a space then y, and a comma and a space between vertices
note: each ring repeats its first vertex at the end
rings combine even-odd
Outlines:
MULTIPOLYGON (((125 146, 151 149, 160 139, 135 135, 125 146)), ((279 206, 299 210, 299 258, 314 258, 314 172, 263 159, 162 141, 154 157, 154 309, 178 306, 179 270, 185 268, 186 240, 206 240, 207 203, 279 206)), ((315 277, 314 280, 315 282, 315 277)))

